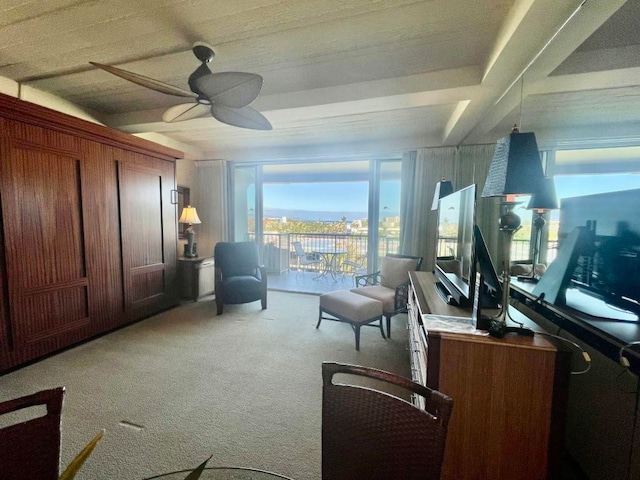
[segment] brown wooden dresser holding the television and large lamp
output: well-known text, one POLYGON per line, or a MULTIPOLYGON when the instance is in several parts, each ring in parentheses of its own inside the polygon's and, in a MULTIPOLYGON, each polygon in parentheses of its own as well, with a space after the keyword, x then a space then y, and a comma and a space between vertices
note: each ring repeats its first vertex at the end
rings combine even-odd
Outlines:
MULTIPOLYGON (((471 312, 445 304, 433 274, 410 276, 412 375, 454 400, 442 478, 554 477, 562 452, 570 353, 540 335, 496 339, 429 331, 428 314, 470 317, 471 312)), ((513 315, 534 325, 519 312, 513 315)))

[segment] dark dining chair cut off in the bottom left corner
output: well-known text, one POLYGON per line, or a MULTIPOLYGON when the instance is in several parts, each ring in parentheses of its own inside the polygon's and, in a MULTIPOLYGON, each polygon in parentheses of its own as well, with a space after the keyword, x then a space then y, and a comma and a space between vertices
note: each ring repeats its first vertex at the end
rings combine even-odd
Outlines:
POLYGON ((63 397, 64 387, 58 387, 0 403, 2 480, 57 480, 63 397), (42 405, 46 413, 34 418, 42 405))

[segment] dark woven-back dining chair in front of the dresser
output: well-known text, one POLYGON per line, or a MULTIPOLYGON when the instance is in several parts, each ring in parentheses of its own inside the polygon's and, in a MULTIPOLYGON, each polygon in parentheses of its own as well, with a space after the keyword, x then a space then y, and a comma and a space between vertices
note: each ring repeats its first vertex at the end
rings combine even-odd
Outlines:
POLYGON ((450 397, 390 372, 333 362, 322 364, 322 385, 323 480, 440 478, 450 397), (337 374, 357 384, 334 383, 337 374), (377 389, 389 386, 423 397, 425 408, 377 389))

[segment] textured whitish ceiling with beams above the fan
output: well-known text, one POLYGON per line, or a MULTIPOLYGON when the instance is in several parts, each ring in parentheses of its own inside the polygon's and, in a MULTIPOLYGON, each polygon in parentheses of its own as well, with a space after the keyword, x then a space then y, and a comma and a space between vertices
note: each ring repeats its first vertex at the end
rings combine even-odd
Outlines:
POLYGON ((640 1, 587 0, 561 28, 582 3, 3 1, 0 76, 114 128, 170 137, 191 158, 384 155, 493 142, 514 123, 543 145, 638 140, 640 1), (252 106, 274 130, 165 124, 182 99, 89 64, 186 89, 195 41, 215 48, 213 71, 264 77, 252 106))

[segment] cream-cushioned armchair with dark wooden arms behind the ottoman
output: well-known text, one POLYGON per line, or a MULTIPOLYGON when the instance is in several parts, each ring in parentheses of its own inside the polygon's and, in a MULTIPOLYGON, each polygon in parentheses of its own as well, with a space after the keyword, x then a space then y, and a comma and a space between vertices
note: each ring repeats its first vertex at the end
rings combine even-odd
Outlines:
POLYGON ((356 288, 352 292, 382 302, 388 338, 391 338, 391 317, 407 311, 409 272, 420 270, 421 266, 422 257, 388 254, 382 258, 379 271, 355 276, 356 288))

